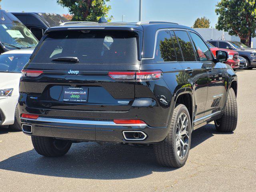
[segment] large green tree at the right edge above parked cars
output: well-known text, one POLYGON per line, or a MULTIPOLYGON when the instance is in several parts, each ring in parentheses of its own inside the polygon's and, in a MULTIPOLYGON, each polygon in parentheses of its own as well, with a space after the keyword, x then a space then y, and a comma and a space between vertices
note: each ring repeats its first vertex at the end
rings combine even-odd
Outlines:
POLYGON ((221 0, 216 5, 216 29, 238 36, 250 46, 250 37, 256 36, 256 0, 221 0))

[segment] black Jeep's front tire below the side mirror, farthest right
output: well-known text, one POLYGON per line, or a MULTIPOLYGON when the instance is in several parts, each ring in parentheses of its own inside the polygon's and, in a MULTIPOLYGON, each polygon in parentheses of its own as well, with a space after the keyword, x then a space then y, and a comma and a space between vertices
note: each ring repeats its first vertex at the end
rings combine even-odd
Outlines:
POLYGON ((233 88, 228 92, 228 99, 224 108, 222 118, 214 121, 215 127, 219 132, 232 132, 237 125, 237 103, 236 94, 233 88))

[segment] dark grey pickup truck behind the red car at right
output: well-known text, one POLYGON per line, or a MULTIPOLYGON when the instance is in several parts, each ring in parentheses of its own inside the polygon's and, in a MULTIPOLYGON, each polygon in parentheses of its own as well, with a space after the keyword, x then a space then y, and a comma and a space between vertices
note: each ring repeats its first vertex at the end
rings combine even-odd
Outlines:
POLYGON ((247 60, 248 66, 244 69, 252 69, 256 67, 256 49, 248 47, 246 48, 243 46, 243 44, 241 45, 241 43, 239 44, 236 41, 208 40, 208 42, 218 48, 237 51, 239 56, 247 60))

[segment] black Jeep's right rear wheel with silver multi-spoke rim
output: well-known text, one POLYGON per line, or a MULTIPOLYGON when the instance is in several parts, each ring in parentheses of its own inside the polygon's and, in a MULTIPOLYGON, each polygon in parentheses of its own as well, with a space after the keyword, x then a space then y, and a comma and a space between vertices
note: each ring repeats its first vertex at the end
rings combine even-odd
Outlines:
POLYGON ((178 104, 173 112, 166 138, 153 145, 158 163, 164 167, 179 168, 188 158, 191 142, 191 122, 188 109, 178 104))

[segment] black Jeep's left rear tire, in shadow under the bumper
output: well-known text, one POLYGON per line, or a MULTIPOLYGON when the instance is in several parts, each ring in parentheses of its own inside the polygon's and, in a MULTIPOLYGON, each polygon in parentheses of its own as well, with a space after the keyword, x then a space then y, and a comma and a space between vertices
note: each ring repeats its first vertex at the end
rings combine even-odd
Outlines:
POLYGON ((71 142, 57 140, 51 137, 31 136, 31 139, 36 152, 46 157, 63 156, 72 145, 71 142))

